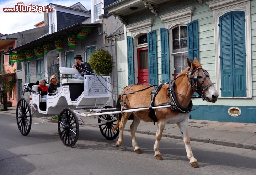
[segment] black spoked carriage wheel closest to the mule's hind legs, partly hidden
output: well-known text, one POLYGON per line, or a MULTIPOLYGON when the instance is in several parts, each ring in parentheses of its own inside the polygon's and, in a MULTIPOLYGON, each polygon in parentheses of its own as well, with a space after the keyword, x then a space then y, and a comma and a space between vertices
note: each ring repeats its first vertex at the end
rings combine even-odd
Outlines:
MULTIPOLYGON (((107 108, 113 108, 112 106, 105 106, 103 107, 105 109, 107 108)), ((117 124, 117 119, 115 118, 116 114, 105 114, 105 115, 99 115, 103 120, 113 120, 112 122, 107 122, 106 124, 99 125, 101 134, 108 140, 116 139, 116 137, 119 134, 119 128, 117 130, 113 130, 114 126, 117 124), (115 120, 116 119, 116 120, 115 120)), ((103 123, 100 118, 98 119, 99 123, 103 123)))

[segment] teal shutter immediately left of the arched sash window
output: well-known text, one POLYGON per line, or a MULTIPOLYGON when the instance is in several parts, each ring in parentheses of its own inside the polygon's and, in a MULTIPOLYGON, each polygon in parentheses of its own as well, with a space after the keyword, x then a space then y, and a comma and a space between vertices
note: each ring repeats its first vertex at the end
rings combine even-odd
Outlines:
POLYGON ((168 29, 160 29, 162 83, 170 81, 168 29))

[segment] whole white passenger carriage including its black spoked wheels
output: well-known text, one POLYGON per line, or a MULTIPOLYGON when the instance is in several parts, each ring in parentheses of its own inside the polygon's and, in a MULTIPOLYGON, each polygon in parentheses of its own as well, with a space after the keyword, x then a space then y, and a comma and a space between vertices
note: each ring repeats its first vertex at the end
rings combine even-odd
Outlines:
MULTIPOLYGON (((60 67, 60 74, 74 75, 78 71, 74 68, 60 67)), ((116 125, 116 114, 103 114, 102 109, 113 108, 105 106, 109 97, 110 77, 86 75, 84 80, 67 78, 62 79, 62 84, 54 94, 48 94, 47 98, 41 98, 38 92, 39 85, 24 85, 25 92, 30 93, 29 100, 20 98, 17 103, 16 118, 18 129, 22 135, 28 135, 32 124, 32 115, 43 114, 53 116, 58 114, 58 132, 60 139, 66 146, 74 146, 79 136, 79 126, 86 126, 81 117, 89 117, 88 112, 94 112, 98 118, 97 125, 102 135, 113 140, 119 134, 119 129, 113 130, 116 125), (89 110, 90 109, 90 110, 89 110), (77 117, 78 116, 78 117, 77 117)), ((39 123, 36 123, 39 124, 39 123)), ((92 125, 92 124, 90 124, 92 125)))

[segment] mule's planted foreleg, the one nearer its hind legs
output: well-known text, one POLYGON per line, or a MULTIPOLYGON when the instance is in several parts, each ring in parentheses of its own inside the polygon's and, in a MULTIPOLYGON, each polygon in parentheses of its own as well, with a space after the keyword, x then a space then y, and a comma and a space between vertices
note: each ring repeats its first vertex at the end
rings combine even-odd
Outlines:
POLYGON ((164 131, 165 122, 158 121, 157 122, 157 130, 156 130, 156 141, 154 145, 155 158, 156 160, 163 160, 161 153, 159 152, 159 142, 162 139, 162 132, 164 131))

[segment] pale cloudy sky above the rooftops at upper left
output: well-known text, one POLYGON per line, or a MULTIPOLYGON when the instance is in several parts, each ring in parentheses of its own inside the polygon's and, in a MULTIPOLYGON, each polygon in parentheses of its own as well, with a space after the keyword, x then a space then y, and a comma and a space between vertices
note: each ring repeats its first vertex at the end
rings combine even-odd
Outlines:
POLYGON ((12 34, 35 28, 35 24, 44 20, 44 13, 38 12, 4 12, 3 8, 14 8, 17 3, 24 3, 24 6, 47 7, 49 3, 70 7, 80 2, 87 10, 91 10, 91 0, 1 0, 0 1, 0 33, 12 34))

